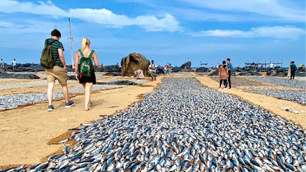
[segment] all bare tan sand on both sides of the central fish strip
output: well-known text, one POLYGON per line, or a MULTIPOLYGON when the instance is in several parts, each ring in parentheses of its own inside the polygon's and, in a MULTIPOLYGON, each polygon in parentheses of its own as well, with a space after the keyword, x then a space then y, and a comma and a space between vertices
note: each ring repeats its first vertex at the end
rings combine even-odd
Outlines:
MULTIPOLYGON (((197 76, 196 73, 190 73, 190 75, 197 76)), ((0 112, 0 147, 2 148, 0 149, 0 169, 17 166, 18 164, 41 163, 46 161, 50 155, 62 153, 63 145, 55 143, 70 137, 73 131, 68 131, 69 127, 79 127, 82 123, 90 123, 103 118, 104 115, 112 115, 116 110, 128 108, 129 105, 141 100, 142 95, 145 93, 154 91, 161 82, 162 77, 165 76, 157 77, 156 81, 150 81, 141 86, 127 86, 95 92, 92 94, 92 100, 95 102, 90 111, 84 110, 84 95, 77 95, 72 98, 76 106, 65 108, 64 100, 58 100, 54 102, 55 110, 53 112, 47 112, 47 103, 38 103, 0 112)), ((109 77, 101 81, 111 79, 118 79, 118 77, 109 77)), ((204 86, 218 90, 218 82, 211 78, 204 76, 196 77, 196 79, 204 86)), ((68 86, 76 84, 70 83, 68 86)), ((28 89, 38 91, 44 90, 46 87, 28 89)), ((25 92, 24 89, 16 89, 14 91, 18 93, 25 92)), ((298 103, 244 92, 235 88, 218 91, 242 97, 246 101, 261 105, 272 113, 288 118, 305 127, 305 113, 292 114, 280 110, 281 107, 285 106, 291 106, 297 110, 305 110, 305 106, 298 103)), ((73 147, 73 144, 75 143, 72 141, 67 142, 69 146, 73 147)))

